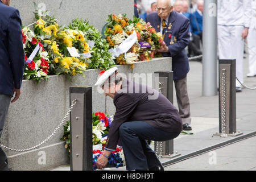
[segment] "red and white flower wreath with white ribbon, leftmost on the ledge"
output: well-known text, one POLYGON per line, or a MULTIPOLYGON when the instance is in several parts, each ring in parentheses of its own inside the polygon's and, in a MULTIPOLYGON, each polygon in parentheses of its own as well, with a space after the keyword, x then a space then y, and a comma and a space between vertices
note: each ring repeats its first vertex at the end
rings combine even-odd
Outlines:
POLYGON ((48 80, 50 63, 48 53, 44 51, 43 45, 30 28, 22 27, 22 41, 25 52, 24 79, 37 82, 42 79, 48 80))

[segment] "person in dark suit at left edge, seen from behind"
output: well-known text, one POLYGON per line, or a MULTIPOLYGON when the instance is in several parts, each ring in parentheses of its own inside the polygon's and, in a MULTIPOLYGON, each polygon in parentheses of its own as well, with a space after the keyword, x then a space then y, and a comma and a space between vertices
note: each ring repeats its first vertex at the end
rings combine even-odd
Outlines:
MULTIPOLYGON (((0 137, 11 102, 18 100, 24 71, 24 50, 19 11, 0 0, 0 137)), ((0 147, 0 171, 8 171, 5 152, 0 147)))

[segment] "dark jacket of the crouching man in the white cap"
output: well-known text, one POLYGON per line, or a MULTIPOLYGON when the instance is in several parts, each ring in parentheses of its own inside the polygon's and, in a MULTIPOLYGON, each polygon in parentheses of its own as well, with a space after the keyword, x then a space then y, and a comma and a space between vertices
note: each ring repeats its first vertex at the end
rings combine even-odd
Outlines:
POLYGON ((176 107, 163 94, 148 86, 124 80, 122 89, 114 96, 114 105, 116 111, 105 144, 106 150, 115 150, 119 139, 119 126, 124 122, 145 121, 167 132, 182 130, 176 107))

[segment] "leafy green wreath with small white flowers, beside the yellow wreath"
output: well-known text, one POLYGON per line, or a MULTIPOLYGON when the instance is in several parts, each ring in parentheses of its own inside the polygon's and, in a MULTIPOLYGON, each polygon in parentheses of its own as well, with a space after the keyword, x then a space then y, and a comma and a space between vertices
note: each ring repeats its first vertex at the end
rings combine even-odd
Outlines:
POLYGON ((102 38, 100 32, 93 26, 89 26, 89 22, 82 19, 74 19, 68 28, 81 31, 84 34, 86 44, 90 47, 91 57, 86 59, 88 68, 100 68, 107 70, 115 63, 109 50, 109 44, 102 38))

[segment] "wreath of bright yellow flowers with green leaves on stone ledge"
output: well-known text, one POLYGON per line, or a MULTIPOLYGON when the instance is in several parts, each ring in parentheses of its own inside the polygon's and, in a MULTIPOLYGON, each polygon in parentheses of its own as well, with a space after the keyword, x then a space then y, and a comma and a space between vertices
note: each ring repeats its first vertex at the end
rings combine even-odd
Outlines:
MULTIPOLYGON (((35 35, 43 43, 43 48, 49 53, 51 60, 50 72, 52 75, 75 75, 82 74, 86 69, 84 60, 78 57, 71 57, 67 51, 67 47, 75 47, 82 49, 86 47, 83 44, 83 35, 72 30, 63 30, 58 24, 54 16, 49 16, 48 11, 39 11, 35 4, 35 35)), ((84 49, 89 49, 88 47, 84 49)))

